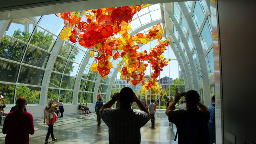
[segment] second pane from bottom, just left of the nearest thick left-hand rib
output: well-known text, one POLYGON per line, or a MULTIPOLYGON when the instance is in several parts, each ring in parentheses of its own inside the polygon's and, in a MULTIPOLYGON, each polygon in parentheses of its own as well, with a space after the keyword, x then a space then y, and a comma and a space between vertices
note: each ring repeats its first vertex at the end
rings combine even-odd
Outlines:
POLYGON ((18 83, 31 85, 41 85, 44 70, 36 69, 28 66, 21 66, 18 83))

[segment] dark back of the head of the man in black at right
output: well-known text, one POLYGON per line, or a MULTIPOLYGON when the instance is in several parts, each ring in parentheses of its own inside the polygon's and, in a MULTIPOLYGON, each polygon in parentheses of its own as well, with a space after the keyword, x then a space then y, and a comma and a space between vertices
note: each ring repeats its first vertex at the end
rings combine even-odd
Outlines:
POLYGON ((197 91, 189 90, 185 94, 185 99, 188 104, 195 107, 195 106, 197 106, 198 102, 200 101, 200 96, 197 91))

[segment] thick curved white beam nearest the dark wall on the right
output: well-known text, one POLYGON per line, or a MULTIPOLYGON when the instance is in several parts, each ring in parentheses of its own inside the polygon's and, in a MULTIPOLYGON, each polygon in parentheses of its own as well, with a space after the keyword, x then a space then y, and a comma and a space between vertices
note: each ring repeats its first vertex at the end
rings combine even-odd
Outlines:
POLYGON ((200 66, 201 74, 202 74, 204 104, 210 105, 211 104, 211 91, 210 91, 210 85, 209 85, 209 77, 208 77, 203 48, 201 45, 201 41, 199 39, 199 34, 196 30, 196 27, 194 25, 192 17, 189 15, 189 12, 187 10, 185 3, 178 2, 178 5, 179 5, 182 15, 184 16, 184 19, 188 25, 193 42, 195 44, 195 48, 196 48, 196 52, 197 52, 197 56, 198 56, 198 60, 199 60, 199 66, 200 66))

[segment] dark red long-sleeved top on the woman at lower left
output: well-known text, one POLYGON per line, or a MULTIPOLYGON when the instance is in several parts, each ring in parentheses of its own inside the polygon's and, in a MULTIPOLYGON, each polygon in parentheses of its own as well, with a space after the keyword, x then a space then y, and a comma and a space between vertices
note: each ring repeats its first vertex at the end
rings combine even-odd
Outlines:
POLYGON ((18 110, 7 114, 3 134, 5 137, 5 144, 29 144, 29 135, 34 134, 33 116, 28 112, 23 112, 19 115, 18 110))

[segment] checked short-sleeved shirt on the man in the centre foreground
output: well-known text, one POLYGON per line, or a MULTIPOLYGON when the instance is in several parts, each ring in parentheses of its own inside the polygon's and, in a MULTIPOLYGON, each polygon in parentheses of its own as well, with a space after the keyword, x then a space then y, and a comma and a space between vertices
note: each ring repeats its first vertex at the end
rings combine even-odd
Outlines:
POLYGON ((140 128, 150 119, 149 113, 134 109, 102 108, 99 114, 109 128, 109 144, 140 144, 140 128))

